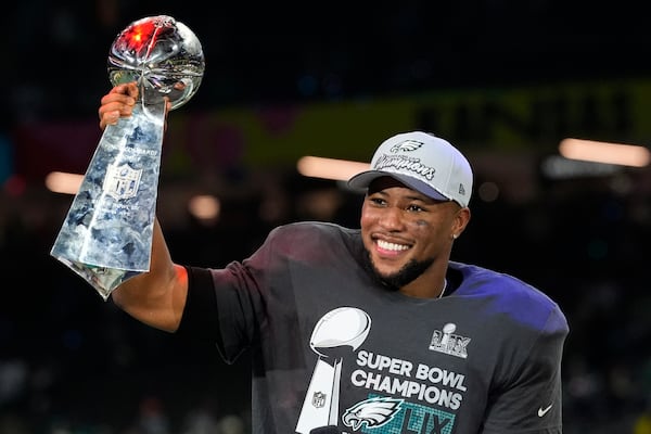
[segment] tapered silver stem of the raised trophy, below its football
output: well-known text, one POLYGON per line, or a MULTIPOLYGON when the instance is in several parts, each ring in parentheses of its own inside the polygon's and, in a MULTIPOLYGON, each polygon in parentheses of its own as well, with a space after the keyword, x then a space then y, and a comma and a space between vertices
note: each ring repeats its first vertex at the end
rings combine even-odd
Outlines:
POLYGON ((149 271, 164 123, 161 100, 106 126, 50 252, 104 301, 149 271))

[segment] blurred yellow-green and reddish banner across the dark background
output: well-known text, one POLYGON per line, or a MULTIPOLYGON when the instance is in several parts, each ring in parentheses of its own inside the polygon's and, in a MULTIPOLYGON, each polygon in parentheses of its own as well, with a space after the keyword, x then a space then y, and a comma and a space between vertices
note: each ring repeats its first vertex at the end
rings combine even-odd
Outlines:
MULTIPOLYGON (((396 131, 423 129, 465 149, 553 152, 571 136, 646 144, 651 81, 549 84, 432 91, 295 106, 173 113, 162 176, 293 165, 303 155, 367 161, 396 131)), ((20 126, 15 171, 82 174, 101 136, 97 119, 20 126)))

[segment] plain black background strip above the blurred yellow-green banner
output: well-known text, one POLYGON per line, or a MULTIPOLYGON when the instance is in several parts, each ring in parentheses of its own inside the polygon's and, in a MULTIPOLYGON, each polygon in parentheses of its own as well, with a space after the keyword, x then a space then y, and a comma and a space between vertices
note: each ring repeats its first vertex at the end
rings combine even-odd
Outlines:
POLYGON ((15 38, 4 49, 3 74, 18 111, 9 119, 94 114, 110 86, 113 39, 131 21, 156 14, 175 16, 202 41, 206 75, 195 107, 651 74, 647 15, 627 1, 10 8, 4 18, 14 18, 4 28, 15 38))

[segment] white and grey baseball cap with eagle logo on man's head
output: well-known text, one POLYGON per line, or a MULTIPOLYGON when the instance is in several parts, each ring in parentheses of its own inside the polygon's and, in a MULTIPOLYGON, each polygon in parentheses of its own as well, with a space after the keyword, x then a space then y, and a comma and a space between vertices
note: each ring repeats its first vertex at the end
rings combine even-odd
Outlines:
POLYGON ((352 189, 367 189, 376 178, 390 176, 437 201, 468 206, 472 168, 448 141, 423 131, 396 135, 378 146, 371 169, 348 180, 352 189))

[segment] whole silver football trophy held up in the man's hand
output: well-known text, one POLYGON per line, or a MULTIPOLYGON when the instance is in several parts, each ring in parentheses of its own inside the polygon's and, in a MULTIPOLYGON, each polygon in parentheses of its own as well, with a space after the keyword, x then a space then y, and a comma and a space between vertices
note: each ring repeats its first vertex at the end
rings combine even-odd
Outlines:
POLYGON ((111 46, 108 79, 136 81, 138 101, 130 117, 104 129, 51 250, 104 299, 149 270, 166 102, 169 110, 188 102, 204 67, 196 36, 167 15, 132 22, 111 46))

